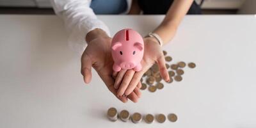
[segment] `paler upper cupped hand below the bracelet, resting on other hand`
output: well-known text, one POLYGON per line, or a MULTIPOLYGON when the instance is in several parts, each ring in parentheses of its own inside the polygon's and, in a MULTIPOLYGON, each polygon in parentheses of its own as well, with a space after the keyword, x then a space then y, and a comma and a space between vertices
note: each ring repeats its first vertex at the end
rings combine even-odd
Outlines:
MULTIPOLYGON (((142 70, 140 72, 135 72, 133 69, 121 70, 116 76, 114 87, 118 89, 118 97, 131 94, 136 88, 136 85, 140 83, 143 74, 152 67, 154 63, 157 63, 159 72, 164 81, 170 81, 161 46, 155 38, 146 37, 144 38, 144 55, 141 60, 142 70)), ((116 74, 116 72, 114 72, 114 74, 116 74)))

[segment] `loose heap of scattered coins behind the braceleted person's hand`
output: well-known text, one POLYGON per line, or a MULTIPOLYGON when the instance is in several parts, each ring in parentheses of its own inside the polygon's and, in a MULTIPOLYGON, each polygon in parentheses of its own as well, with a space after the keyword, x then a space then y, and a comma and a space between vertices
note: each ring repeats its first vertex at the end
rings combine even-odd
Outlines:
MULTIPOLYGON (((172 61, 171 56, 167 56, 167 52, 163 51, 164 59, 166 61, 166 68, 168 70, 168 74, 170 76, 170 81, 168 83, 172 83, 173 79, 177 82, 182 81, 182 75, 184 75, 184 67, 186 67, 186 63, 184 61, 179 61, 178 63, 169 64, 172 61)), ((196 65, 193 62, 188 63, 189 68, 195 68, 196 65)), ((164 88, 164 84, 161 83, 162 77, 159 72, 159 68, 157 64, 152 65, 145 74, 145 83, 143 83, 143 78, 141 78, 141 90, 146 90, 148 88, 149 92, 156 92, 156 90, 161 90, 164 88)))

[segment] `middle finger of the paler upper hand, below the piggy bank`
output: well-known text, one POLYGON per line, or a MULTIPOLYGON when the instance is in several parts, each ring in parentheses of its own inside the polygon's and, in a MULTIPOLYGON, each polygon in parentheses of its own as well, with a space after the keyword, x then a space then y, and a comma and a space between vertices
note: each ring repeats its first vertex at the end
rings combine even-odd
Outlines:
POLYGON ((129 70, 127 70, 127 72, 125 72, 123 81, 120 84, 117 95, 124 95, 124 92, 125 92, 126 88, 128 87, 129 83, 131 82, 133 75, 134 75, 133 69, 129 69, 129 70))

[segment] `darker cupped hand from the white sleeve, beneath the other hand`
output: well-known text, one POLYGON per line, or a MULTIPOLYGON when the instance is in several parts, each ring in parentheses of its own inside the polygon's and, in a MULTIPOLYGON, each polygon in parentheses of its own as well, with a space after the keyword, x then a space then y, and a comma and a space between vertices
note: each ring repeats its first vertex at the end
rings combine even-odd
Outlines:
MULTIPOLYGON (((102 30, 101 30, 102 31, 102 30)), ((97 71, 102 81, 106 84, 109 91, 117 97, 117 90, 114 88, 115 79, 113 79, 113 59, 111 56, 111 38, 106 34, 93 33, 95 38, 88 41, 88 46, 81 57, 81 74, 84 78, 84 83, 90 83, 92 79, 92 67, 97 71)), ((92 35, 93 36, 93 35, 92 35)), ((137 83, 138 84, 138 83, 137 83)), ((141 92, 140 88, 136 87, 127 97, 117 97, 122 102, 127 102, 127 99, 133 102, 138 101, 141 92)))

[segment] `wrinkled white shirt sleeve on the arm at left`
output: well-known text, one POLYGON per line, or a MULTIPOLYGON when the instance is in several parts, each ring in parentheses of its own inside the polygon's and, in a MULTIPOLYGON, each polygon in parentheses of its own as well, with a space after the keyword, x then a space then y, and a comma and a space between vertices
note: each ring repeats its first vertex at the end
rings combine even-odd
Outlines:
POLYGON ((77 52, 83 52, 86 47, 85 36, 95 28, 109 29, 104 22, 97 19, 91 0, 51 0, 54 12, 63 19, 68 32, 68 45, 77 52))

